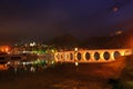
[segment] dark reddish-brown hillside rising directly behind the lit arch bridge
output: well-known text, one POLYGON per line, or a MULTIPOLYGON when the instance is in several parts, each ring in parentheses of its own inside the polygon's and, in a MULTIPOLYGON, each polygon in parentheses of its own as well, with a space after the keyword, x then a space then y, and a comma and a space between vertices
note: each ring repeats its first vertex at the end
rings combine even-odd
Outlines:
POLYGON ((130 48, 133 30, 105 37, 90 37, 84 40, 79 40, 70 33, 58 36, 48 41, 49 44, 54 44, 57 48, 73 49, 79 47, 82 49, 117 49, 130 48))

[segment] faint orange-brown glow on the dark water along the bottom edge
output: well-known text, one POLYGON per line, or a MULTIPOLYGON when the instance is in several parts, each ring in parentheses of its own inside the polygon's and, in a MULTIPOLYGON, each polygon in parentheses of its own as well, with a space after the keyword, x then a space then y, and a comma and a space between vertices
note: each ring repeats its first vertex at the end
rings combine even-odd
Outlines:
POLYGON ((65 80, 63 82, 53 85, 53 87, 58 89, 103 89, 103 87, 105 88, 105 86, 103 86, 100 82, 75 80, 65 80))

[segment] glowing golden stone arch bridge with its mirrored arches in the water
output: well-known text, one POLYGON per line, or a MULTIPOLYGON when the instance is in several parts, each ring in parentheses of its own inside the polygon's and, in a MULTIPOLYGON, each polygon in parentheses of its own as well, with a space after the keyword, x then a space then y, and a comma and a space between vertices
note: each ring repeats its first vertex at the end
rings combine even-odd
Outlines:
POLYGON ((109 62, 132 53, 131 49, 76 50, 55 52, 54 59, 59 62, 109 62))

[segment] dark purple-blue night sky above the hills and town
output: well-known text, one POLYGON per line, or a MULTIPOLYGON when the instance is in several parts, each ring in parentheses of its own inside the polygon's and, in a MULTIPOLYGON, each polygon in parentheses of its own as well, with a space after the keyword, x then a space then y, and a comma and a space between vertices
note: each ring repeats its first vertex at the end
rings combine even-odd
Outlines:
POLYGON ((0 43, 133 28, 133 0, 0 0, 0 43))

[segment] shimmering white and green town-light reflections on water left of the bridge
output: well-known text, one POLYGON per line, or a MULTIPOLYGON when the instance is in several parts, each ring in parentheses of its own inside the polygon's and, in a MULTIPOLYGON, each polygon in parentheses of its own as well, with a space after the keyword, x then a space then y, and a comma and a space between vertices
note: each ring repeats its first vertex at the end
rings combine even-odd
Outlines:
POLYGON ((18 69, 23 70, 43 70, 49 67, 53 67, 55 65, 55 61, 52 59, 45 59, 45 58, 38 58, 38 59, 27 59, 27 60, 17 60, 17 61, 8 61, 7 67, 9 69, 14 69, 17 71, 18 69))

